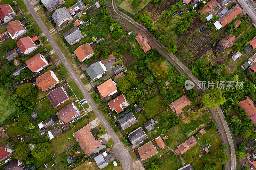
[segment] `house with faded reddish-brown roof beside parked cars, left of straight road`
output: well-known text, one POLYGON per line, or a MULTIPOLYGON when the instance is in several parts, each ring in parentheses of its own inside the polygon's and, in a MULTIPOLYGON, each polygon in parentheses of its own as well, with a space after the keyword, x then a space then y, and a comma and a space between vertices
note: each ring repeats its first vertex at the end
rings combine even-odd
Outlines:
POLYGON ((69 103, 67 106, 60 109, 58 111, 58 114, 60 120, 62 120, 65 123, 73 121, 80 115, 79 110, 73 102, 69 103))

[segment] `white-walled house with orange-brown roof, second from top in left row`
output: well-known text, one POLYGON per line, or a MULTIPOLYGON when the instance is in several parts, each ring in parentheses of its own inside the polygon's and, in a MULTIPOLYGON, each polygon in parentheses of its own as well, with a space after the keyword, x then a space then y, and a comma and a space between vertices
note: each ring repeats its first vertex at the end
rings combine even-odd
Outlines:
POLYGON ((6 29, 9 35, 11 36, 12 40, 14 38, 19 38, 21 35, 25 34, 28 31, 19 20, 9 22, 6 29))

